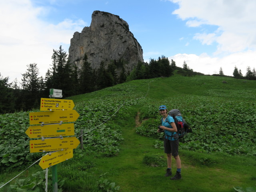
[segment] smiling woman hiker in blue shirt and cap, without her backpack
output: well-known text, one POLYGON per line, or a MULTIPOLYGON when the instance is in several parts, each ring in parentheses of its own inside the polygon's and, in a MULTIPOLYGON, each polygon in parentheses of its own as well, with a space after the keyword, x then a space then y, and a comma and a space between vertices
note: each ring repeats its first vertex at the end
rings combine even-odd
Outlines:
POLYGON ((174 123, 172 116, 167 114, 167 108, 165 105, 159 107, 159 112, 162 115, 161 126, 157 132, 162 132, 164 130, 164 152, 167 154, 167 169, 165 176, 172 175, 172 156, 176 160, 176 175, 171 178, 171 180, 178 180, 181 178, 181 161, 178 154, 179 149, 179 139, 177 133, 177 127, 174 123))

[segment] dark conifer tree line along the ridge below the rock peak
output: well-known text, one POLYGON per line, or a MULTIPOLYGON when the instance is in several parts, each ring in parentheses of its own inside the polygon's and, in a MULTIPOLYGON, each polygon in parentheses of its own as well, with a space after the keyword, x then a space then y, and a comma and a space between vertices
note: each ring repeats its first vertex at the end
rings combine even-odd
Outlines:
MULTIPOLYGON (((82 66, 71 65, 67 60, 66 51, 62 46, 58 50, 53 50, 52 64, 47 70, 45 77, 39 76, 39 68, 36 63, 28 64, 26 72, 22 74, 21 82, 17 78, 8 83, 8 77, 0 74, 0 114, 16 111, 27 111, 37 109, 40 106, 40 98, 48 98, 50 88, 62 90, 65 97, 84 94, 114 86, 125 81, 147 79, 156 77, 169 77, 174 74, 174 70, 183 76, 204 75, 194 72, 184 61, 183 67, 176 66, 176 62, 171 62, 165 56, 158 60, 150 58, 149 63, 138 62, 134 69, 127 73, 126 62, 122 59, 110 62, 107 66, 104 62, 98 68, 92 68, 88 57, 84 54, 82 66)), ((220 76, 224 76, 222 69, 220 76)), ((234 78, 245 78, 256 80, 255 69, 247 68, 246 76, 242 76, 241 70, 235 67, 234 78)))

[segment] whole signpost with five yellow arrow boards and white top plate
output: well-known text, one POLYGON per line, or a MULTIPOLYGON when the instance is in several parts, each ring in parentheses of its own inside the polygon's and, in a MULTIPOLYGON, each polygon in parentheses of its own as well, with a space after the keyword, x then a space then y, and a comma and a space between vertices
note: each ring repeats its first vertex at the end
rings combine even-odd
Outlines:
MULTIPOLYGON (((61 98, 62 90, 50 89, 50 97, 61 98)), ((35 126, 29 126, 26 134, 29 138, 42 138, 30 140, 30 153, 51 152, 42 157, 39 165, 42 169, 51 166, 53 192, 58 191, 56 164, 72 158, 73 149, 80 144, 76 137, 63 138, 63 136, 74 135, 74 123, 64 123, 75 122, 79 117, 78 112, 73 108, 72 100, 41 98, 40 111, 42 112, 29 113, 29 124, 35 126)))

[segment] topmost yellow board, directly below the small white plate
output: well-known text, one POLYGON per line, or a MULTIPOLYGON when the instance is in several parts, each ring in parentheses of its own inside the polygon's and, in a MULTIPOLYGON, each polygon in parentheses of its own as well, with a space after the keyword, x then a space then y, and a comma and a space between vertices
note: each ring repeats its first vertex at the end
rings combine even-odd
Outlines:
POLYGON ((72 100, 41 98, 40 111, 72 110, 74 106, 72 100))

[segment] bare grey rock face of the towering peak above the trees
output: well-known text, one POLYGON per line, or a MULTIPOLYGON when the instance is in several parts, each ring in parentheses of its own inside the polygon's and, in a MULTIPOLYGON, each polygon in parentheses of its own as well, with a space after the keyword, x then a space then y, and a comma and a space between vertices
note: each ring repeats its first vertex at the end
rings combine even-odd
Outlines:
POLYGON ((89 27, 74 33, 68 53, 68 59, 78 68, 85 53, 92 68, 98 68, 102 61, 107 65, 111 60, 123 59, 126 71, 130 71, 138 61, 144 61, 142 48, 128 23, 117 15, 101 11, 92 13, 89 27))

